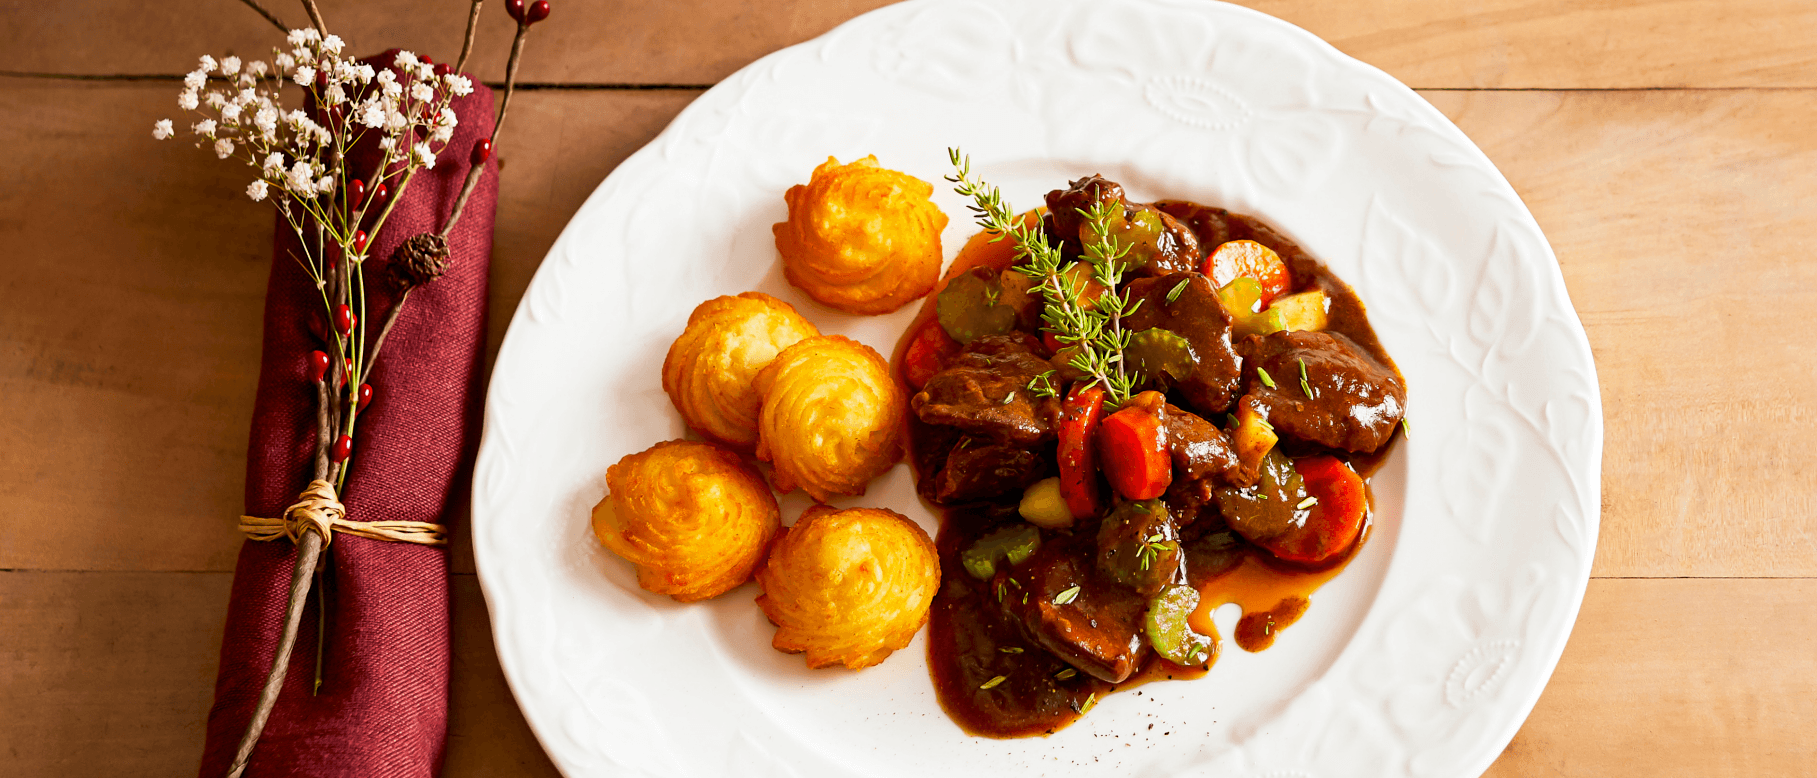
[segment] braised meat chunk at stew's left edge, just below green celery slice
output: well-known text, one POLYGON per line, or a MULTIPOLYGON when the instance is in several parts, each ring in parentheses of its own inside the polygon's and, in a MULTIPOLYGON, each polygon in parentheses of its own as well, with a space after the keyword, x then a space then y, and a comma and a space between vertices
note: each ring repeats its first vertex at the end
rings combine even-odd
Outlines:
POLYGON ((979 338, 934 373, 908 407, 927 424, 1001 444, 1039 444, 1054 438, 1059 400, 1036 396, 1028 382, 1052 367, 1019 334, 979 338))

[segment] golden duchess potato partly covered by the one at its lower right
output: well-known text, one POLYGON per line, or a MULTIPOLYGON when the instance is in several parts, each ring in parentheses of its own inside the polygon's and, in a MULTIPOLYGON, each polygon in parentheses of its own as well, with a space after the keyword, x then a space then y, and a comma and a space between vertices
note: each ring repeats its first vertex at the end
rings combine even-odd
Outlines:
POLYGON ((794 305, 763 293, 707 300, 669 345, 663 391, 689 427, 750 453, 758 445, 758 371, 781 349, 816 334, 794 305))

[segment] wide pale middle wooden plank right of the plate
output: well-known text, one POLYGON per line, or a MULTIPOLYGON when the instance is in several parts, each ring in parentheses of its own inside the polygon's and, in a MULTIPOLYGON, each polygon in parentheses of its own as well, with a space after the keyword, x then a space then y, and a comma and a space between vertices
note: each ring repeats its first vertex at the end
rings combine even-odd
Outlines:
POLYGON ((1428 95, 1552 240, 1603 384, 1603 576, 1817 574, 1808 93, 1428 95))

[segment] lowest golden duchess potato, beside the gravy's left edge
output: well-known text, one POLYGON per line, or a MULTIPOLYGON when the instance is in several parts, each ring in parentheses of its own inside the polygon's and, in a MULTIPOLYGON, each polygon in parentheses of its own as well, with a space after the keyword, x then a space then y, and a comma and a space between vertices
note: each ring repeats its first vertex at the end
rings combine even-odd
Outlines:
POLYGON ((807 665, 865 669, 908 645, 939 589, 939 556, 899 513, 814 505, 783 529, 758 571, 770 645, 807 665))

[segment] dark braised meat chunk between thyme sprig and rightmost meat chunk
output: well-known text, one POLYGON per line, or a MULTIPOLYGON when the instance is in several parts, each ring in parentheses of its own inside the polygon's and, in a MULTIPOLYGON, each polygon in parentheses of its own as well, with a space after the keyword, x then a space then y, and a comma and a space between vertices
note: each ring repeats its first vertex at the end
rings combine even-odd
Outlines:
POLYGON ((1230 344, 1230 313, 1217 302, 1212 280, 1197 273, 1137 278, 1128 284, 1128 293, 1130 300, 1141 300, 1141 307, 1123 320, 1123 329, 1139 333, 1163 327, 1187 338, 1199 364, 1192 367, 1190 376, 1176 382, 1176 387, 1187 398, 1190 411, 1225 413, 1237 398, 1237 380, 1243 373, 1230 344), (1179 294, 1168 302, 1176 287, 1179 294))

